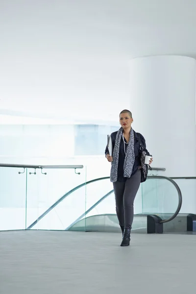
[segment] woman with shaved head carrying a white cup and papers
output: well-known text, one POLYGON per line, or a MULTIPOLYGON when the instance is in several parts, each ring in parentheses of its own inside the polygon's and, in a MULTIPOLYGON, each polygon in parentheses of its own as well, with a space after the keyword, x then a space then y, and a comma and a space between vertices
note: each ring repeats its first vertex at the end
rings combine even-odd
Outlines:
MULTIPOLYGON (((133 202, 140 187, 141 181, 145 181, 145 155, 149 155, 146 149, 146 142, 140 133, 136 133, 131 124, 132 114, 129 110, 120 113, 121 128, 111 134, 113 154, 109 154, 108 147, 105 149, 105 156, 112 162, 110 180, 113 182, 116 213, 123 233, 121 246, 128 246, 130 243, 130 231, 133 222, 133 202), (146 150, 146 151, 143 151, 146 150), (141 177, 145 179, 141 180, 141 177)), ((152 163, 152 159, 149 164, 152 163)))

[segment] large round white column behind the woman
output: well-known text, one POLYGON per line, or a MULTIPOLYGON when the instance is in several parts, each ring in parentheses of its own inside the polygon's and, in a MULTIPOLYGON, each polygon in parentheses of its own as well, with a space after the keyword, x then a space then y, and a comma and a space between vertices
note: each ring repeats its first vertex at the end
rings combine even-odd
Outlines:
POLYGON ((154 166, 168 176, 196 176, 196 60, 149 56, 130 61, 133 128, 154 166))

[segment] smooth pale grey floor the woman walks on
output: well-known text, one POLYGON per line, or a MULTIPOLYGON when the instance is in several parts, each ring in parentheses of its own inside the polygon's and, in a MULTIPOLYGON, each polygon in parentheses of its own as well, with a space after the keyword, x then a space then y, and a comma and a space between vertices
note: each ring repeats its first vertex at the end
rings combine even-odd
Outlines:
POLYGON ((196 235, 0 232, 0 294, 196 292, 196 235))

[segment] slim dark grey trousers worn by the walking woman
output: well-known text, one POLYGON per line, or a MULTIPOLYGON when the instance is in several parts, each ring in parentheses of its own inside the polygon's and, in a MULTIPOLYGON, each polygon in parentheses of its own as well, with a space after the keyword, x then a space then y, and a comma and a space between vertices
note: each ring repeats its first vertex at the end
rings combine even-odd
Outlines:
POLYGON ((114 182, 116 213, 119 224, 125 229, 131 229, 133 222, 133 202, 141 182, 141 170, 138 170, 125 182, 114 182))

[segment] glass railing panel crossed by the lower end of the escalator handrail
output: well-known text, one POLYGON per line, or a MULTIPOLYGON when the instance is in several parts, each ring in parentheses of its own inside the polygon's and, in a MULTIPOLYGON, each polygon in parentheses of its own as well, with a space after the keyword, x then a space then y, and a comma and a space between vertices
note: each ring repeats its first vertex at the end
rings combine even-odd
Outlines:
POLYGON ((34 170, 27 171, 27 228, 65 230, 85 213, 86 167, 76 170, 80 174, 76 174, 74 169, 63 168, 36 170, 36 174, 29 172, 34 170), (83 183, 83 187, 66 196, 83 183), (56 205, 50 209, 54 203, 56 205), (43 218, 38 220, 43 214, 43 218))

